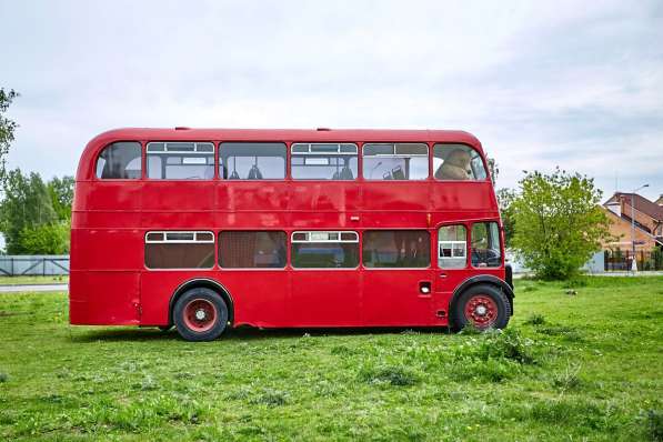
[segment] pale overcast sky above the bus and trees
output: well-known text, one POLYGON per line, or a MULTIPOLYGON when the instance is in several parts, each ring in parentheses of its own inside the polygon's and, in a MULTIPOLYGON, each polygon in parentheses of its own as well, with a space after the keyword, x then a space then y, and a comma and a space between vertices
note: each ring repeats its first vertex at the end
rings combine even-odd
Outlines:
POLYGON ((500 167, 663 193, 662 1, 0 0, 9 164, 118 127, 474 133, 500 167))

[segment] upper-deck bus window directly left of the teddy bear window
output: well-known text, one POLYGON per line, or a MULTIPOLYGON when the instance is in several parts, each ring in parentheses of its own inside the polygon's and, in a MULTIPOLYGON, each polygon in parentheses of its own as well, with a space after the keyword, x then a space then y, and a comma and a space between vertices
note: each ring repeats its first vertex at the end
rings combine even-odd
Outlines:
POLYGON ((425 180, 429 147, 421 143, 366 143, 363 147, 366 180, 425 180))

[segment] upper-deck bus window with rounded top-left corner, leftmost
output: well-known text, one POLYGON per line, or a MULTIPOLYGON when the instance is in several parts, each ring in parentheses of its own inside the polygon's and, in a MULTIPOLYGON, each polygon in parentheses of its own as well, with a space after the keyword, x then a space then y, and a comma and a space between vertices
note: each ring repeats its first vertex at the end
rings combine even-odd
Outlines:
POLYGON ((141 175, 141 148, 138 142, 107 145, 97 159, 97 178, 138 180, 141 175))

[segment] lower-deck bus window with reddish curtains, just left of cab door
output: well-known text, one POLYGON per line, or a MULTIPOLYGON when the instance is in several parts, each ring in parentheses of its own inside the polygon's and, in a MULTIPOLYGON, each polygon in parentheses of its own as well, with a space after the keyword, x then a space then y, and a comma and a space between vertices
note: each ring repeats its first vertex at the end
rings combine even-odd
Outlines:
POLYGON ((362 253, 368 268, 426 268, 431 238, 425 230, 366 231, 362 253))

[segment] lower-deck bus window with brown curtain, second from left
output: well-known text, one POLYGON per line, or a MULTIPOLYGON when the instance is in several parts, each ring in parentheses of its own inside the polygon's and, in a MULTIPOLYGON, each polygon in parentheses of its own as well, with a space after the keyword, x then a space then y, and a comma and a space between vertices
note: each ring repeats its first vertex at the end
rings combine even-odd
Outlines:
POLYGON ((219 234, 219 263, 225 269, 282 269, 285 232, 225 231, 219 234))

